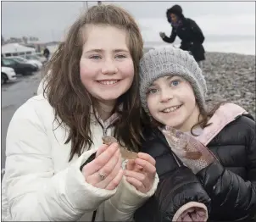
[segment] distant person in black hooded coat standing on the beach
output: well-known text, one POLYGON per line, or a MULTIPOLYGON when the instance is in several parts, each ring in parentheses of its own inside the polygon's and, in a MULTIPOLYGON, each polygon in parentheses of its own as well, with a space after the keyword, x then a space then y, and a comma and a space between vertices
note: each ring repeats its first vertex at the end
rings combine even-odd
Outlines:
POLYGON ((192 19, 187 19, 182 14, 182 8, 180 5, 174 5, 166 11, 166 17, 168 22, 172 26, 170 37, 165 36, 164 32, 160 32, 161 38, 164 42, 175 42, 175 37, 179 36, 181 39, 181 49, 192 53, 199 66, 202 68, 200 61, 205 60, 203 41, 203 32, 192 19))

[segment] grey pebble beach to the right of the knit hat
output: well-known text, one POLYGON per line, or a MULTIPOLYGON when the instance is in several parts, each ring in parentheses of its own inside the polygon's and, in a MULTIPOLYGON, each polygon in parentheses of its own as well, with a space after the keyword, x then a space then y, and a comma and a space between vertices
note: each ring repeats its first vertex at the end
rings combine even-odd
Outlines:
POLYGON ((221 101, 236 103, 255 119, 255 56, 206 53, 203 75, 208 86, 209 108, 221 101))

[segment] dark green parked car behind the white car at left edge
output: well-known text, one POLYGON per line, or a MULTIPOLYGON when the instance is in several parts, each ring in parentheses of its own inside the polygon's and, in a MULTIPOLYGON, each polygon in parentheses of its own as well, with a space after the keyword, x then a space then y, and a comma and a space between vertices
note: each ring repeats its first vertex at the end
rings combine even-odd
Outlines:
POLYGON ((26 64, 14 60, 13 58, 1 58, 1 64, 13 68, 16 74, 27 75, 36 72, 38 68, 32 64, 26 64))

